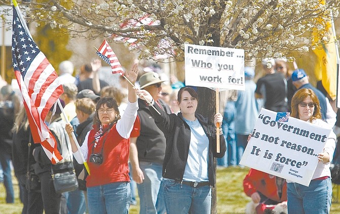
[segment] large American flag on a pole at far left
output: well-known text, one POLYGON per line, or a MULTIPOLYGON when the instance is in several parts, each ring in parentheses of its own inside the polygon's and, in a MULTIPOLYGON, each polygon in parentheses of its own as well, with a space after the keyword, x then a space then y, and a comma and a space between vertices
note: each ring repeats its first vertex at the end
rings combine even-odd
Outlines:
POLYGON ((55 164, 62 157, 44 120, 63 89, 55 69, 32 40, 18 6, 13 7, 12 54, 33 140, 42 145, 47 157, 55 164))

